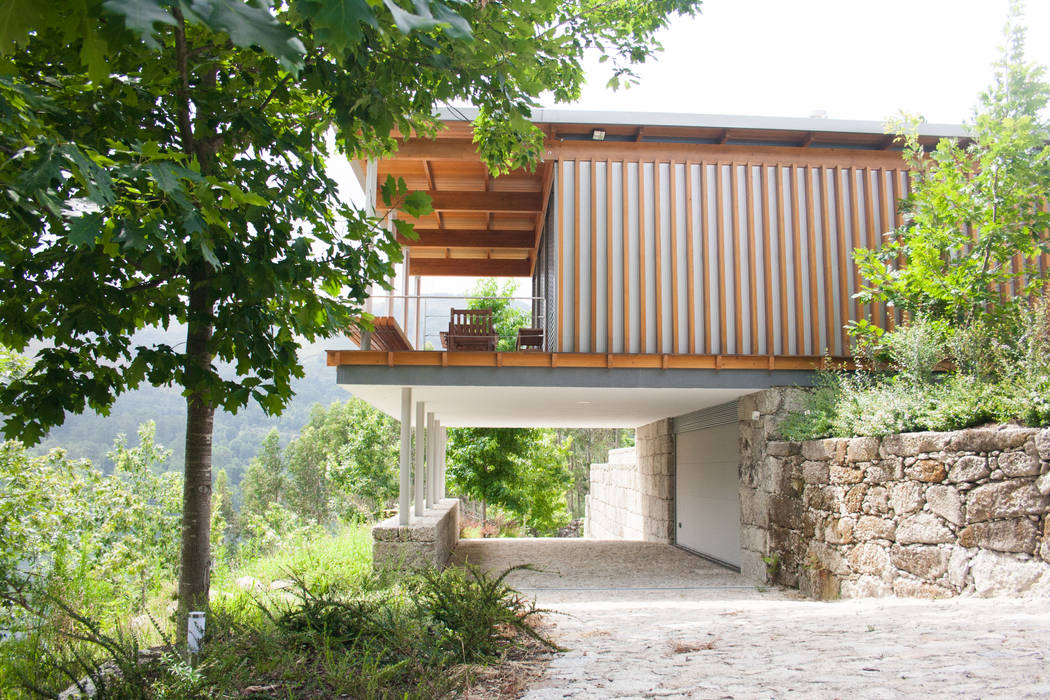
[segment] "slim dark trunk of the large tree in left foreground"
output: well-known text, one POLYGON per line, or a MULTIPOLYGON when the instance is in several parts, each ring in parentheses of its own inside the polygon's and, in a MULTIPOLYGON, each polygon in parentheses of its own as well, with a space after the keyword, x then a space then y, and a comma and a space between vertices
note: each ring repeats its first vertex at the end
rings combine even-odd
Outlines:
POLYGON ((190 292, 186 332, 186 472, 183 486, 182 556, 178 569, 176 639, 186 641, 188 613, 207 610, 211 584, 211 440, 215 406, 200 388, 197 372, 211 372, 208 342, 213 330, 204 284, 190 292), (195 381, 194 381, 195 380, 195 381))

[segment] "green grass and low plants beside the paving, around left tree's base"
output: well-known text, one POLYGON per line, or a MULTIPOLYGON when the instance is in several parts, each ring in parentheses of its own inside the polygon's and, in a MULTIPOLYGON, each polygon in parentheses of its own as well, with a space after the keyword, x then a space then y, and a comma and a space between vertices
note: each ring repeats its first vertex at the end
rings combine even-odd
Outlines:
MULTIPOLYGON (((212 586, 208 634, 193 665, 167 646, 144 664, 134 661, 138 646, 170 643, 170 629, 136 636, 126 619, 94 620, 70 609, 51 621, 61 619, 80 639, 52 630, 36 654, 21 650, 18 671, 54 695, 69 678, 94 678, 100 663, 116 659, 128 682, 110 683, 103 697, 120 700, 437 698, 455 695, 478 664, 498 663, 527 640, 553 648, 531 624, 542 611, 503 576, 459 568, 377 576, 368 526, 216 572, 212 586), (242 576, 260 589, 242 590, 242 576), (271 589, 279 579, 291 585, 271 589)), ((5 678, 17 680, 10 669, 5 678)), ((27 694, 4 690, 0 697, 27 694)))

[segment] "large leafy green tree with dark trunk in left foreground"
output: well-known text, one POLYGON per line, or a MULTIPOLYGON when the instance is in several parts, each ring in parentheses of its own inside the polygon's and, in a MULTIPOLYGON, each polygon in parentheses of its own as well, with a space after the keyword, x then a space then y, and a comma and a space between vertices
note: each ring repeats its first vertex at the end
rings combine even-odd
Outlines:
MULTIPOLYGON (((534 99, 579 96, 585 48, 614 81, 694 0, 84 0, 18 2, 0 31, 0 344, 45 341, 0 389, 4 431, 36 442, 143 382, 187 404, 180 619, 208 602, 215 411, 277 412, 301 339, 361 319, 400 258, 342 203, 330 144, 378 155, 478 105, 496 171, 534 164, 534 99), (184 347, 136 345, 182 323, 184 347), (230 375, 216 361, 234 366, 230 375)), ((425 196, 388 179, 408 215, 425 196)), ((411 226, 397 224, 405 235, 411 226)), ((178 634, 185 625, 178 624, 178 634)))

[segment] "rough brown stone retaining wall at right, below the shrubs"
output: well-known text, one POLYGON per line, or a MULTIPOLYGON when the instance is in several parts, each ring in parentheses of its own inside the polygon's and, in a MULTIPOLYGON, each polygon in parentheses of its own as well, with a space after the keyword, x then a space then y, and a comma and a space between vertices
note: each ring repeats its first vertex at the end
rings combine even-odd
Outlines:
POLYGON ((770 442, 746 471, 753 576, 821 598, 1050 594, 1050 429, 770 442))

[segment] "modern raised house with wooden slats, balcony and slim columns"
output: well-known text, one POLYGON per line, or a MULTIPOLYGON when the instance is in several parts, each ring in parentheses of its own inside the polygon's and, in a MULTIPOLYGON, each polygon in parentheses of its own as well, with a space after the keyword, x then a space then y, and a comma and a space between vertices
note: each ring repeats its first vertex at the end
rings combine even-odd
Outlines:
MULTIPOLYGON (((848 358, 848 321, 900 320, 854 298, 852 255, 901 222, 894 137, 874 122, 540 110, 543 163, 494 178, 457 114, 357 164, 373 206, 393 174, 435 213, 402 240, 398 292, 372 301, 370 349, 329 352, 341 385, 402 418, 401 525, 434 525, 448 503, 420 480, 410 523, 414 413, 416 471, 436 485, 443 427, 636 427, 637 447, 594 469, 588 536, 673 543, 757 575, 741 548, 749 441, 791 399, 751 395, 848 358), (419 278, 441 275, 530 279, 531 344, 457 344, 490 331, 454 323, 465 302, 419 296, 419 278)), ((963 132, 924 125, 925 142, 943 136, 963 132)), ((377 540, 414 538, 395 530, 377 540)))

